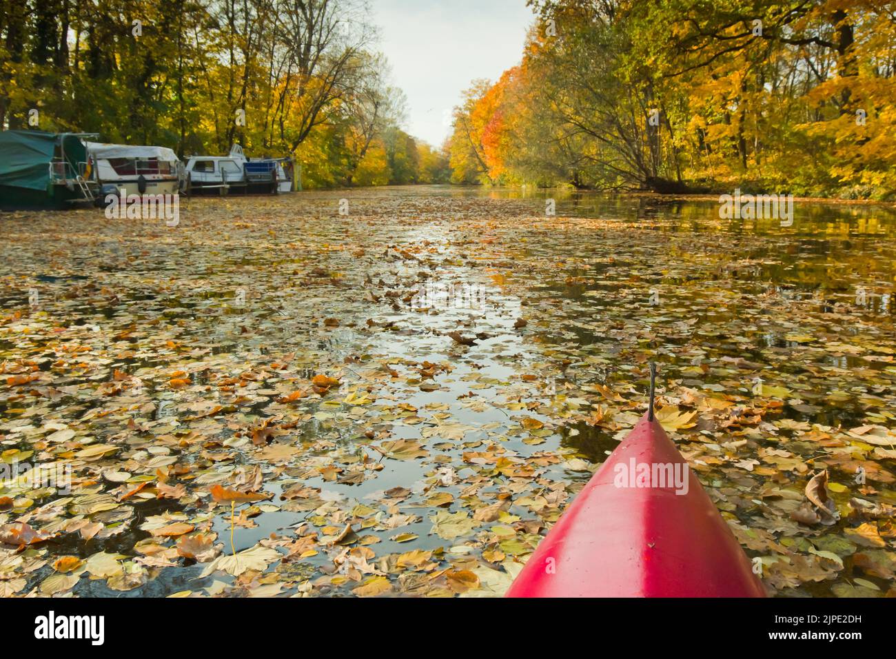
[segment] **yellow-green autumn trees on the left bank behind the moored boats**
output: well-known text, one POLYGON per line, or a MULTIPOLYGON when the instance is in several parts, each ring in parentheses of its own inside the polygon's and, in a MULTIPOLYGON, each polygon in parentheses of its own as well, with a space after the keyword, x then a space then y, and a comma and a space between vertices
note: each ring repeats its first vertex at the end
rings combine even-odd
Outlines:
POLYGON ((442 152, 401 130, 368 15, 362 0, 0 0, 0 126, 182 157, 241 143, 294 155, 310 186, 445 182, 442 152))

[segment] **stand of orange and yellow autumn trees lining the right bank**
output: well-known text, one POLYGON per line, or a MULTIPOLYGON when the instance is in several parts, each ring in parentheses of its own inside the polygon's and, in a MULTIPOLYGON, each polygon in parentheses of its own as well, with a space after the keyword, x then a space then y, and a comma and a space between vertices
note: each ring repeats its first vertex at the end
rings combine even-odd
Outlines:
POLYGON ((896 195, 882 0, 530 0, 521 64, 456 111, 455 182, 896 195))

